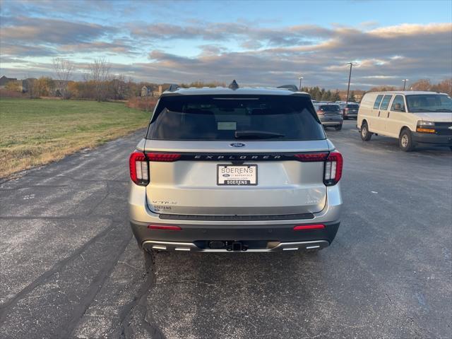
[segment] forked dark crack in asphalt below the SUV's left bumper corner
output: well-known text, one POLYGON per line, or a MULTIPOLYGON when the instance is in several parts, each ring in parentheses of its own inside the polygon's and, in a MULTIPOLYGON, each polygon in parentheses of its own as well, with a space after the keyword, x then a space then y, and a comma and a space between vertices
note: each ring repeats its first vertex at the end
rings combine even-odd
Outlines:
POLYGON ((124 308, 119 312, 119 321, 121 323, 121 338, 132 338, 133 329, 131 328, 131 321, 133 316, 131 315, 133 310, 137 310, 141 314, 141 328, 144 328, 148 332, 152 339, 165 339, 160 328, 155 325, 155 320, 150 314, 148 314, 147 297, 150 290, 155 286, 155 258, 153 254, 147 254, 143 251, 145 258, 145 281, 138 289, 136 296, 129 304, 126 304, 124 308), (152 321, 152 323, 150 321, 152 321))

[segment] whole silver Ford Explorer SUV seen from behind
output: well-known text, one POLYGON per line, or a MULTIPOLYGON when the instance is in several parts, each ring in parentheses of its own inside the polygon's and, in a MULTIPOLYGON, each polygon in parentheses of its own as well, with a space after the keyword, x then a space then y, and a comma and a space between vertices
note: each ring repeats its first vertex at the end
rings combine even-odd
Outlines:
POLYGON ((316 251, 340 223, 343 157, 290 88, 170 88, 130 160, 152 251, 316 251))

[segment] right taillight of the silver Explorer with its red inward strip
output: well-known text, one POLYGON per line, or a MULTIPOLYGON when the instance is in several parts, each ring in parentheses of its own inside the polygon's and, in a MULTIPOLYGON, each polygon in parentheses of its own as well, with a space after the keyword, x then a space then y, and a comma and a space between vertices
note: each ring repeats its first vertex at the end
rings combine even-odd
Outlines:
POLYGON ((342 177, 343 157, 339 152, 300 153, 295 154, 301 162, 324 162, 323 184, 333 186, 342 177))

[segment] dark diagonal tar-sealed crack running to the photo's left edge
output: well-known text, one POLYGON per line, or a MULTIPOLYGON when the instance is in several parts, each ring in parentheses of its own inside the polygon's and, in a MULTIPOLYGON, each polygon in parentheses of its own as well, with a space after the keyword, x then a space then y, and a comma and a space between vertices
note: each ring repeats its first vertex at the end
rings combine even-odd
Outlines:
POLYGON ((73 254, 71 254, 71 256, 68 256, 67 258, 64 258, 63 260, 55 263, 54 266, 52 266, 52 268, 50 268, 49 270, 46 270, 44 273, 42 273, 42 275, 40 275, 35 280, 33 280, 32 283, 30 283, 26 287, 24 287, 23 290, 20 290, 20 292, 18 292, 15 297, 13 297, 12 299, 9 299, 4 304, 1 304, 0 305, 0 324, 4 323, 6 316, 8 315, 8 311, 10 309, 12 309, 13 307, 15 307, 16 304, 21 299, 23 299, 26 295, 28 295, 28 293, 32 292, 32 290, 35 290, 35 288, 38 287, 39 285, 41 285, 41 283, 44 283, 44 281, 47 280, 47 278, 50 278, 55 273, 58 273, 59 270, 61 270, 61 268, 64 268, 64 266, 66 266, 68 263, 70 263, 74 259, 78 258, 78 256, 80 256, 83 253, 83 251, 85 251, 85 249, 88 248, 88 246, 90 246, 91 244, 96 242, 97 239, 100 239, 105 234, 107 234, 108 232, 113 230, 116 225, 117 225, 117 222, 112 220, 112 225, 107 227, 102 232, 97 233, 95 235, 95 237, 88 240, 88 242, 85 242, 85 244, 83 244, 81 247, 76 249, 76 251, 74 251, 73 254))

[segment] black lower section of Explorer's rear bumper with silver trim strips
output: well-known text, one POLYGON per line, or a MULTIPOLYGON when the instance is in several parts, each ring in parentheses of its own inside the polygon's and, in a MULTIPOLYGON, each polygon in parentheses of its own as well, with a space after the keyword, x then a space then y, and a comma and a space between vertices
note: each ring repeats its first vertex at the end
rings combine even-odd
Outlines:
POLYGON ((294 230, 295 225, 183 225, 182 230, 150 230, 147 223, 131 222, 138 245, 166 251, 231 251, 238 242, 246 251, 323 249, 333 242, 340 222, 323 229, 294 230), (222 243, 211 248, 210 242, 222 243))

